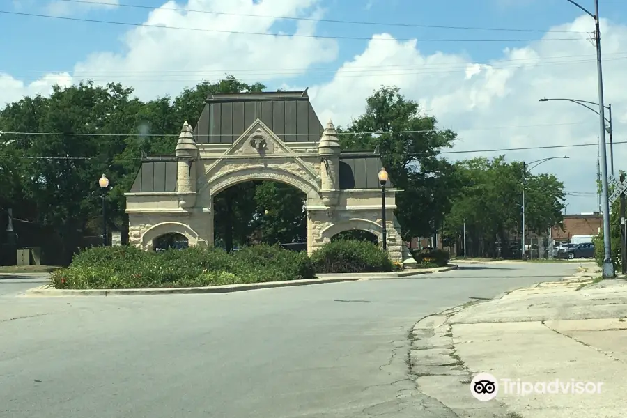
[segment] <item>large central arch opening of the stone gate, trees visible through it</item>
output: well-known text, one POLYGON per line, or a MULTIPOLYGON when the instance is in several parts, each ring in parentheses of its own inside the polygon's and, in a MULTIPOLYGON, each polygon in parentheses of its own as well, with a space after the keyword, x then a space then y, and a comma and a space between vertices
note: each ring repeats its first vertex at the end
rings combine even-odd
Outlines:
POLYGON ((307 250, 307 195, 277 181, 238 183, 213 196, 215 247, 257 244, 307 250))

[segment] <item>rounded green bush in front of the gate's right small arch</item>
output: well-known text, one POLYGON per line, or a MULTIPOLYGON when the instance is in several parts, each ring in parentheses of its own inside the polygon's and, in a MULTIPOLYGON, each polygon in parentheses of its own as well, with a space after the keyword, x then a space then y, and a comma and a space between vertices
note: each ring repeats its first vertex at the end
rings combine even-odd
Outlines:
POLYGON ((311 254, 317 273, 391 272, 387 252, 371 242, 339 240, 311 254))

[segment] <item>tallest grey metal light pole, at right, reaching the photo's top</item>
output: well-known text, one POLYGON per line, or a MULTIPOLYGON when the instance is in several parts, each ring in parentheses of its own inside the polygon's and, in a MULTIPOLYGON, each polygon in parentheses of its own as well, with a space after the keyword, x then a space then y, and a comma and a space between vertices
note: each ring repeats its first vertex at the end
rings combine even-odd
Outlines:
POLYGON ((601 140, 601 194, 603 194, 603 247, 605 256, 603 258, 603 278, 614 278, 614 263, 612 263, 612 244, 610 242, 610 199, 607 193, 607 152, 605 150, 605 104, 603 104, 603 65, 601 64, 601 29, 598 19, 598 0, 594 0, 594 13, 581 6, 574 0, 566 0, 568 3, 580 8, 587 15, 594 19, 594 38, 596 39, 596 77, 598 81, 598 123, 599 139, 601 140))

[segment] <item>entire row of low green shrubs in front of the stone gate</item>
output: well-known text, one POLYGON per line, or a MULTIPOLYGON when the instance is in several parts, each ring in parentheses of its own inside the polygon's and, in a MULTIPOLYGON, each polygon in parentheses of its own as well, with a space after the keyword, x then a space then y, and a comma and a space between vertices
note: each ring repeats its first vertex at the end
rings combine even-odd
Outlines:
POLYGON ((389 272, 387 253, 370 242, 331 242, 312 254, 256 245, 233 254, 189 247, 142 251, 93 247, 80 251, 68 268, 52 273, 56 288, 172 288, 311 279, 318 273, 389 272))

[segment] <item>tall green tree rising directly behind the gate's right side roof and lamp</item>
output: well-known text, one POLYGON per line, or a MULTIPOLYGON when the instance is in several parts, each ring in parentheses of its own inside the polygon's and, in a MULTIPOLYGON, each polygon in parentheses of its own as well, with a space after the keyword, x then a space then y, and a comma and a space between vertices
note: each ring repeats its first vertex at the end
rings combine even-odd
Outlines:
POLYGON ((452 166, 440 157, 456 134, 439 130, 438 120, 401 95, 398 87, 381 87, 366 99, 366 111, 340 135, 344 150, 377 150, 396 195, 396 217, 405 239, 437 231, 450 207, 455 187, 452 166), (377 132, 362 133, 362 132, 377 132))

